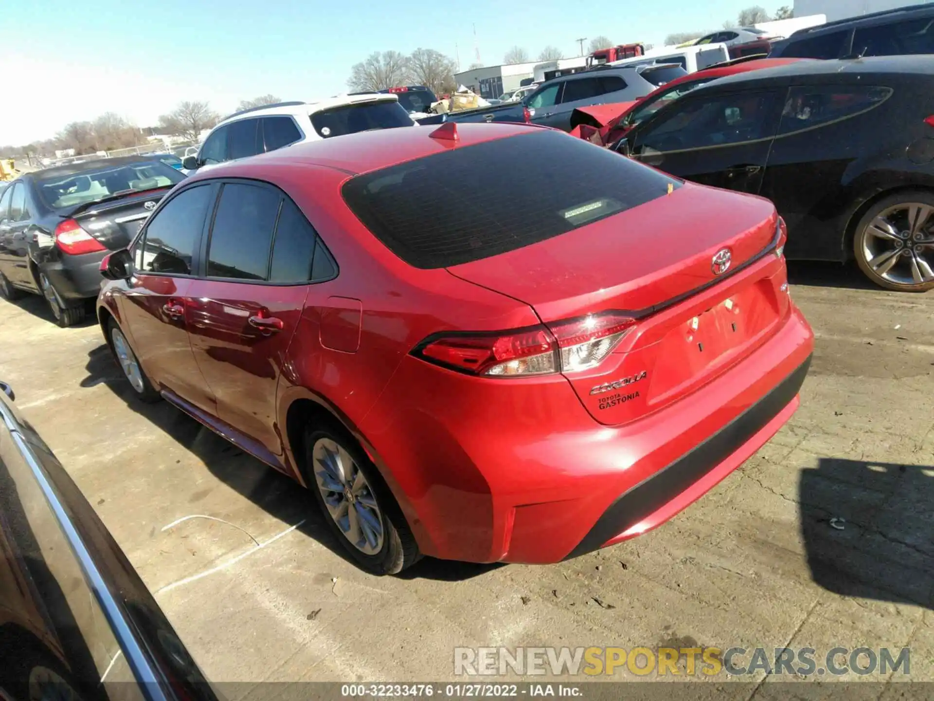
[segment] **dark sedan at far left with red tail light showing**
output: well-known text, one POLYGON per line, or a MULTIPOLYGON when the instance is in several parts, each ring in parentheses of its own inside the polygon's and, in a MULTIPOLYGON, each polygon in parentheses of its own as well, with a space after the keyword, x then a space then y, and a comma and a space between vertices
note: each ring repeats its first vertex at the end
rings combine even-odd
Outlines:
POLYGON ((42 294, 60 326, 80 322, 101 287, 99 265, 126 248, 185 176, 146 156, 26 173, 0 196, 0 295, 42 294))

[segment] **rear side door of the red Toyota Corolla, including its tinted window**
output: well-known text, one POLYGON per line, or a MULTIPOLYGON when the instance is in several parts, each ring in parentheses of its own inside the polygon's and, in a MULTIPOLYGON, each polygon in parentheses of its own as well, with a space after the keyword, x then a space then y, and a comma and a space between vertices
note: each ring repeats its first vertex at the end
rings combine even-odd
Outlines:
POLYGON ((281 191, 228 180, 205 241, 203 275, 191 281, 191 349, 218 417, 254 439, 254 452, 274 465, 282 454, 276 384, 302 316, 315 240, 281 191))

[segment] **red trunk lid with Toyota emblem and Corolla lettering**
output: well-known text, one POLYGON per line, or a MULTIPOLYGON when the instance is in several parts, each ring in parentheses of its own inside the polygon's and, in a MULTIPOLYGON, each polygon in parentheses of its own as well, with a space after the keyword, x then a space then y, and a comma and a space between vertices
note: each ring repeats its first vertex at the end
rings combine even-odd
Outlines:
POLYGON ((787 308, 784 263, 744 274, 776 240, 768 200, 686 183, 554 238, 448 271, 525 302, 545 325, 624 311, 635 323, 601 365, 566 372, 606 424, 675 401, 750 352, 787 308), (715 256, 729 250, 717 275, 715 256))

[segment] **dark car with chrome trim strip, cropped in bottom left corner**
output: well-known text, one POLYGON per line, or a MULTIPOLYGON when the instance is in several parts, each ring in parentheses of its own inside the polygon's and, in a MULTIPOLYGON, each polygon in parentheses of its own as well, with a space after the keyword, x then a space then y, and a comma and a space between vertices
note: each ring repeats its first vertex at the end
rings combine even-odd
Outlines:
POLYGON ((12 397, 0 382, 0 699, 216 701, 12 397))

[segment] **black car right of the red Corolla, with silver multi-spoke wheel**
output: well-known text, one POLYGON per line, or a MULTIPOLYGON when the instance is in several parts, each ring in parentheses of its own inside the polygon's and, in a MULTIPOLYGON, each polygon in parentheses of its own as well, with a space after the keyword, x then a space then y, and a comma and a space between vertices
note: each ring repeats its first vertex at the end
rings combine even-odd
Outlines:
POLYGON ((934 289, 934 55, 715 80, 611 148, 768 197, 788 225, 788 258, 855 260, 889 290, 934 289))

